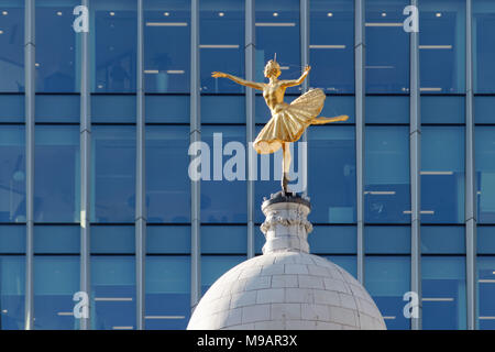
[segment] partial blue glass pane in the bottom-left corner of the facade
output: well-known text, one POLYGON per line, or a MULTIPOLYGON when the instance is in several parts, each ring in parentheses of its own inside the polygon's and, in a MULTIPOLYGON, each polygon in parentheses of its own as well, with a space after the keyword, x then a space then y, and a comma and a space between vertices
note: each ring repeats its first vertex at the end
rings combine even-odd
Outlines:
POLYGON ((0 256, 0 327, 24 329, 24 256, 0 256))

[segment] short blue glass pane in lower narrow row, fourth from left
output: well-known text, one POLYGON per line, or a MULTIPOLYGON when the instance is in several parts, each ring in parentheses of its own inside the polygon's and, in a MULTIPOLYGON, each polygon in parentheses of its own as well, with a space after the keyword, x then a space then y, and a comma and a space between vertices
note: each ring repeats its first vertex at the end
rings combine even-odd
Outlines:
POLYGON ((146 248, 147 253, 190 253, 190 227, 148 226, 146 248))

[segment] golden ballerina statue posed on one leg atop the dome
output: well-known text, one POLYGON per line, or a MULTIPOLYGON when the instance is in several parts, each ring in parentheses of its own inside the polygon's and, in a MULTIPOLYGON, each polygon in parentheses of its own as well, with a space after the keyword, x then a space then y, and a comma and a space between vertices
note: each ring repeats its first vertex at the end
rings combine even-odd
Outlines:
POLYGON ((310 124, 324 124, 337 121, 345 121, 348 116, 337 118, 317 118, 323 109, 327 98, 321 89, 310 89, 290 103, 284 101, 285 90, 302 84, 311 69, 306 66, 304 74, 298 79, 279 80, 280 66, 276 59, 271 59, 264 69, 264 75, 270 79, 267 84, 249 81, 229 74, 215 72, 212 77, 224 77, 234 82, 263 90, 263 97, 272 112, 272 119, 261 130, 253 143, 258 154, 271 154, 282 146, 282 189, 287 194, 288 173, 290 166, 289 143, 296 142, 310 124))

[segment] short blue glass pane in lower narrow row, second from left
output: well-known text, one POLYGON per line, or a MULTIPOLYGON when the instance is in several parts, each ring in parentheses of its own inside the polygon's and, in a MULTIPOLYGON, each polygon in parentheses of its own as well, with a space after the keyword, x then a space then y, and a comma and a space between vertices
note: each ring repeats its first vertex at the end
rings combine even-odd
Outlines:
POLYGON ((79 226, 35 226, 34 253, 75 253, 80 249, 79 226))

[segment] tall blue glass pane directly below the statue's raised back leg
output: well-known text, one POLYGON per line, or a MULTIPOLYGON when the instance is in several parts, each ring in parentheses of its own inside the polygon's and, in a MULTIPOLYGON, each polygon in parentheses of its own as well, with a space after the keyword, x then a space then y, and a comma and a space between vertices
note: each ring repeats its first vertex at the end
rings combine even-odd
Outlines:
MULTIPOLYGON (((311 197, 312 206, 309 220, 354 222, 356 199, 354 128, 315 127, 308 134, 308 195, 311 197)), ((296 156, 297 154, 293 158, 296 156)))

